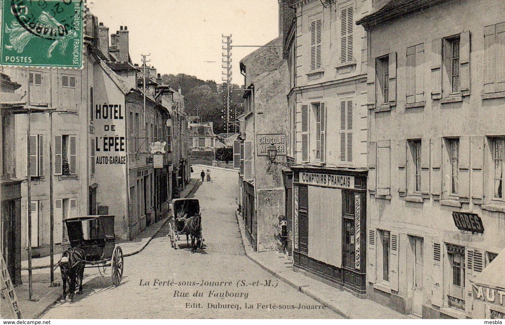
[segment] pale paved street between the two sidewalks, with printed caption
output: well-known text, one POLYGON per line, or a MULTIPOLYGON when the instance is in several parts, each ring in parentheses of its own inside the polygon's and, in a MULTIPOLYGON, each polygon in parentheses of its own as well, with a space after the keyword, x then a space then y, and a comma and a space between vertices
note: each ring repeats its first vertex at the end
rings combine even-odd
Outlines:
POLYGON ((120 286, 92 270, 83 295, 42 317, 341 318, 247 258, 235 218, 237 175, 213 170, 212 176, 194 193, 203 215, 204 250, 192 254, 185 241, 178 242, 180 249, 170 248, 165 227, 142 252, 125 259, 120 286))

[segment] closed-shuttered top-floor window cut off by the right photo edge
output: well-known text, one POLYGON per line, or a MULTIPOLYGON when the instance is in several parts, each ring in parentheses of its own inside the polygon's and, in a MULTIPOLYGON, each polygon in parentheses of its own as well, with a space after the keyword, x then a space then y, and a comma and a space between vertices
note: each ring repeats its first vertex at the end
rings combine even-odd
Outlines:
POLYGON ((505 91, 505 22, 484 28, 484 93, 505 91))

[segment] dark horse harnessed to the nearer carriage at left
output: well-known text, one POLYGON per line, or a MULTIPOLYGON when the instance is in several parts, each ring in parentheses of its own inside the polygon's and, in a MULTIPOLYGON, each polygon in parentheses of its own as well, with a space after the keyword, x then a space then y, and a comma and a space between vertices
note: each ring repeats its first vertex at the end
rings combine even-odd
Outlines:
POLYGON ((67 282, 69 284, 70 301, 74 301, 74 292, 79 284, 78 295, 82 294, 82 278, 84 276, 84 260, 86 255, 80 248, 69 248, 62 254, 60 270, 63 281, 63 295, 67 296, 67 282))

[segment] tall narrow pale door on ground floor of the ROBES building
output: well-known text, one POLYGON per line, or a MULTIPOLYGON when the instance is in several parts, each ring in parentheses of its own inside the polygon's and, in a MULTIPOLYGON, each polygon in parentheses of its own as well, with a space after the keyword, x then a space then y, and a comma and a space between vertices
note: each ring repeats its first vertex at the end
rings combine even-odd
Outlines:
POLYGON ((423 239, 410 237, 412 249, 412 313, 421 317, 423 308, 423 239))

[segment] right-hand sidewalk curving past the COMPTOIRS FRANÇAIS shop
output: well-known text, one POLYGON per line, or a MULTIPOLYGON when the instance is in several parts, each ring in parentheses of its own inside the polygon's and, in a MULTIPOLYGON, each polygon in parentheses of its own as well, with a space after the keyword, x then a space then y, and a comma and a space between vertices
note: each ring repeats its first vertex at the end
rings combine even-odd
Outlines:
POLYGON ((267 272, 281 279, 296 290, 319 301, 327 308, 349 319, 410 319, 368 299, 360 299, 349 292, 340 291, 318 280, 293 272, 292 261, 278 251, 255 252, 245 236, 244 223, 237 214, 237 221, 247 257, 267 272))

